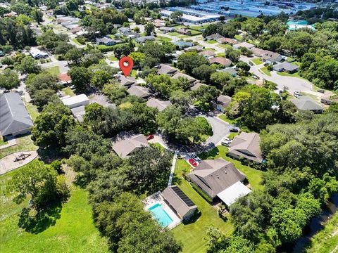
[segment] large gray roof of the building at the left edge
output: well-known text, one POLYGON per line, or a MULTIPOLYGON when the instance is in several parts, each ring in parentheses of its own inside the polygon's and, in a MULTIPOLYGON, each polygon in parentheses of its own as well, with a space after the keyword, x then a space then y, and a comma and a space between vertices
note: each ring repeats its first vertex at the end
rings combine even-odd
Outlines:
POLYGON ((18 93, 0 95, 0 132, 2 136, 29 131, 34 126, 25 104, 18 93))

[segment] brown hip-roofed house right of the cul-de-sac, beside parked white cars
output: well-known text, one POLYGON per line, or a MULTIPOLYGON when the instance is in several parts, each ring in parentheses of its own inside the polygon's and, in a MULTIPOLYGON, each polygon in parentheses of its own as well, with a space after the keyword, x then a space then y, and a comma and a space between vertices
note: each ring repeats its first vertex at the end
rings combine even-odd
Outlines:
POLYGON ((257 133, 244 133, 234 136, 228 155, 239 159, 244 157, 256 163, 263 162, 261 148, 259 146, 259 134, 257 133))

